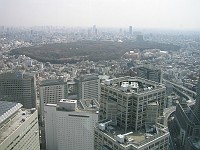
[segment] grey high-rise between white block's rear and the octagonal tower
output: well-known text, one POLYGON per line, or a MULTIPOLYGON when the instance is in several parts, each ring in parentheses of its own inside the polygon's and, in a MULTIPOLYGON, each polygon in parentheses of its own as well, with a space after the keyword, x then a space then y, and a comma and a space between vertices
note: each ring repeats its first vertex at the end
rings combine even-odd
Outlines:
POLYGON ((97 74, 81 75, 75 79, 77 84, 78 99, 100 98, 100 79, 97 74))

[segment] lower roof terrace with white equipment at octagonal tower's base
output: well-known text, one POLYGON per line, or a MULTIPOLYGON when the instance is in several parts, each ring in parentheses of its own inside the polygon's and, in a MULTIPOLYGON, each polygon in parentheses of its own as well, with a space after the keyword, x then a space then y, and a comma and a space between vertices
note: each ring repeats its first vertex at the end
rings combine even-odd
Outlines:
POLYGON ((121 143, 124 147, 129 145, 138 147, 160 136, 169 134, 167 127, 161 124, 149 126, 146 130, 139 132, 128 131, 127 133, 124 133, 124 130, 116 126, 109 125, 109 123, 110 122, 108 120, 104 120, 103 122, 99 122, 96 128, 114 139, 116 142, 121 143), (102 128, 103 124, 105 125, 105 128, 102 128))

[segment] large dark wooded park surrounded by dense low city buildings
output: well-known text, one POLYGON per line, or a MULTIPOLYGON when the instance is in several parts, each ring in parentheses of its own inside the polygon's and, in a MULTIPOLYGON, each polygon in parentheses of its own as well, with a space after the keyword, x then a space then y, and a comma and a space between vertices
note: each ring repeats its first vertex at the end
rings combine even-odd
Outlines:
POLYGON ((115 60, 125 52, 134 49, 152 49, 172 51, 179 46, 155 42, 112 42, 112 41, 78 41, 55 43, 14 49, 10 54, 26 55, 41 62, 74 63, 85 60, 115 60))

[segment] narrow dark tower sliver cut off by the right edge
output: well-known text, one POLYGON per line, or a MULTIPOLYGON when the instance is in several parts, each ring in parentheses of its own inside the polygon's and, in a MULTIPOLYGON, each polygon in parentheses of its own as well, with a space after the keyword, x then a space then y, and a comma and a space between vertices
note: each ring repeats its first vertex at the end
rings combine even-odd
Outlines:
POLYGON ((196 117, 200 120, 200 71, 199 71, 199 80, 197 84, 197 96, 196 96, 194 113, 196 117))

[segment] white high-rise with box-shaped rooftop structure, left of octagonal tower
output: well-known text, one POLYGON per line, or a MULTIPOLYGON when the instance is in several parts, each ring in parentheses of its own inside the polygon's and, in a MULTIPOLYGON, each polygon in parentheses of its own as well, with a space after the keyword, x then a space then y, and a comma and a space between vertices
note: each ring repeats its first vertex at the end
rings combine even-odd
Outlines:
POLYGON ((95 99, 62 99, 44 108, 48 150, 93 150, 99 109, 95 99))

